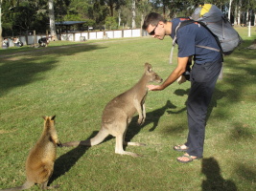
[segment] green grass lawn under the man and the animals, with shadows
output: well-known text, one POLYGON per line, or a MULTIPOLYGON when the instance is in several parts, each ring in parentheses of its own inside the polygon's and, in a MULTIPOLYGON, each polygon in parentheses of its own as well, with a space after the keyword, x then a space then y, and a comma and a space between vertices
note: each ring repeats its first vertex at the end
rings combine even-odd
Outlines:
MULTIPOLYGON (((58 148, 51 180, 60 184, 56 190, 255 190, 256 53, 244 47, 256 32, 246 37, 246 28, 237 30, 244 44, 225 57, 209 108, 204 159, 175 161, 181 154, 172 147, 187 136, 189 83, 174 83, 148 94, 144 125, 136 125, 137 115, 129 125, 127 138, 147 146, 126 150, 142 158, 114 154, 114 138, 91 148, 58 148)), ((167 36, 0 50, 0 188, 25 182, 25 160, 41 134, 41 116, 57 115, 62 142, 95 135, 105 104, 137 82, 145 62, 163 78, 172 72, 171 44, 167 36)))

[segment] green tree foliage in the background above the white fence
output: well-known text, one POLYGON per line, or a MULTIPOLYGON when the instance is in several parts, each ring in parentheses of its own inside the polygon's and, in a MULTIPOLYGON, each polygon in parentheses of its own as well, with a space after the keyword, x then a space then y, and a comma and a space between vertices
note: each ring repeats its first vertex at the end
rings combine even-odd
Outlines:
MULTIPOLYGON (((103 26, 111 27, 111 29, 123 26, 126 28, 131 27, 132 0, 55 0, 54 2, 57 22, 64 20, 86 21, 88 24, 85 24, 84 27, 92 26, 94 29, 103 29, 103 26), (115 19, 109 17, 114 17, 115 19)), ((159 12, 170 20, 177 16, 191 15, 192 11, 201 1, 151 0, 135 2, 135 23, 137 28, 139 28, 143 18, 150 11, 159 12)), ((207 0, 205 3, 215 4, 222 11, 227 11, 229 0, 207 0)), ((245 14, 247 11, 251 21, 255 20, 256 1, 233 0, 231 8, 232 16, 236 15, 238 8, 241 8, 241 20, 244 23, 246 23, 245 14)), ((45 32, 49 28, 48 0, 3 0, 2 12, 4 36, 22 34, 26 30, 45 32)), ((232 17, 233 20, 236 20, 236 18, 233 19, 232 17)))

